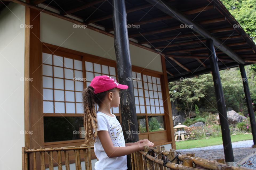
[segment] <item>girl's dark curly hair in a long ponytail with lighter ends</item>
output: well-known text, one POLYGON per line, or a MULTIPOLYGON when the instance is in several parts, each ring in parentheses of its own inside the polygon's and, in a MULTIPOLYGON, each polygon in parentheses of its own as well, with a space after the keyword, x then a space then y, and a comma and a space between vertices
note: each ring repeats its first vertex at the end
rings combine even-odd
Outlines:
POLYGON ((94 94, 94 88, 88 86, 83 91, 83 109, 84 109, 84 122, 83 126, 85 128, 85 144, 87 146, 90 145, 90 139, 93 137, 94 142, 97 137, 97 114, 95 111, 95 104, 100 105, 102 100, 106 97, 109 92, 114 92, 115 88, 104 91, 98 94, 94 94), (93 134, 93 129, 95 133, 93 134))

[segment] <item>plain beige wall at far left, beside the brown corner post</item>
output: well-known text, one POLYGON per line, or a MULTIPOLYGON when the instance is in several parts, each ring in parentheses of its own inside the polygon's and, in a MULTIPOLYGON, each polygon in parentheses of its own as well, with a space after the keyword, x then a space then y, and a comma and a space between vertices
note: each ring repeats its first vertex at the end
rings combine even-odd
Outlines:
POLYGON ((10 3, 0 14, 0 169, 21 169, 25 145, 25 28, 20 24, 25 24, 25 7, 10 3))

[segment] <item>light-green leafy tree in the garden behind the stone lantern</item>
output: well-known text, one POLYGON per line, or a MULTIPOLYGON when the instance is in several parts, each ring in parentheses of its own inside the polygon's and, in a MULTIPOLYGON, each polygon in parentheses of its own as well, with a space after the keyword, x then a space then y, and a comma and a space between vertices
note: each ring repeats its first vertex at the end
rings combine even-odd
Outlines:
POLYGON ((189 112, 189 117, 196 101, 206 95, 207 78, 185 78, 169 83, 170 100, 181 102, 189 112))

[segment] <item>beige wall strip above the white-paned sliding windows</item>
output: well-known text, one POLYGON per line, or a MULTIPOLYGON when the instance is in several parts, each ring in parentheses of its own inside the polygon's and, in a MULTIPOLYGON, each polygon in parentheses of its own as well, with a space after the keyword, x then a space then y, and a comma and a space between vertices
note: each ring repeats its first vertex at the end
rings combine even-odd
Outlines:
MULTIPOLYGON (((73 23, 40 14, 40 39, 95 56, 116 60, 114 38, 87 28, 73 28, 73 23)), ((160 55, 130 44, 132 65, 162 72, 160 55)))

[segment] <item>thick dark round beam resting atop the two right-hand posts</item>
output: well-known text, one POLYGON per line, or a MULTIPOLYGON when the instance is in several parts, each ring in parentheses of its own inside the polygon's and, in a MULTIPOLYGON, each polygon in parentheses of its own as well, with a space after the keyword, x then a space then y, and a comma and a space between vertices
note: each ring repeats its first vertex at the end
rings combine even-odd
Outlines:
POLYGON ((212 39, 214 45, 224 53, 226 53, 228 56, 233 58, 236 62, 239 64, 244 64, 245 62, 241 57, 239 57, 233 50, 231 50, 229 47, 224 45, 222 41, 218 40, 216 37, 214 37, 209 31, 201 27, 201 25, 191 21, 190 18, 179 12, 177 9, 173 8, 170 6, 168 3, 165 1, 158 1, 158 0, 146 0, 147 2, 151 3, 152 5, 155 5, 156 8, 159 10, 165 12, 166 14, 172 16, 173 18, 177 19, 183 24, 187 25, 193 25, 193 28, 191 29, 201 36, 203 36, 205 39, 212 39))

